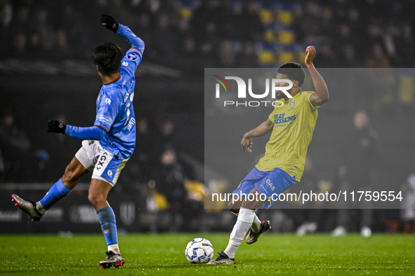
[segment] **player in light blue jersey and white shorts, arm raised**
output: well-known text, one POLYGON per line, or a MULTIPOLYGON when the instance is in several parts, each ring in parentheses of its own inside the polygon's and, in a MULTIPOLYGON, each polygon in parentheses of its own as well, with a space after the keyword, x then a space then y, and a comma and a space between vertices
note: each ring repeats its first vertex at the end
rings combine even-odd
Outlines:
POLYGON ((96 101, 95 123, 92 127, 75 127, 50 120, 48 132, 84 139, 81 149, 67 166, 63 177, 40 201, 23 200, 18 195, 12 195, 12 198, 15 205, 32 216, 34 221, 39 221, 48 209, 72 191, 79 177, 93 170, 88 200, 97 210, 108 247, 107 258, 100 261, 100 266, 110 268, 124 265, 124 259, 119 251, 115 215, 107 202, 107 195, 136 146, 134 74, 141 62, 144 42, 112 16, 103 15, 100 20, 104 27, 124 36, 131 48, 123 58, 117 44, 105 43, 95 47, 92 60, 103 79, 96 101))

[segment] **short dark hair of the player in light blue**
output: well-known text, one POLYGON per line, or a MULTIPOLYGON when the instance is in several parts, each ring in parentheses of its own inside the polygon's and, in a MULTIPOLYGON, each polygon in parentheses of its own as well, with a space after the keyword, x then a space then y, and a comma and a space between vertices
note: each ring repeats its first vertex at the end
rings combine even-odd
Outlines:
POLYGON ((100 67, 103 74, 117 73, 121 67, 121 48, 115 43, 107 42, 93 49, 92 62, 100 67))

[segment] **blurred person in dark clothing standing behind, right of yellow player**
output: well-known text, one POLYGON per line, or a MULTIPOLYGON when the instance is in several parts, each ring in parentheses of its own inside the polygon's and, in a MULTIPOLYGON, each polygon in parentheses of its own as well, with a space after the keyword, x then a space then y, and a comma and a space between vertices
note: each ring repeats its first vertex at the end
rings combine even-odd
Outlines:
MULTIPOLYGON (((366 111, 359 110, 353 116, 355 131, 345 137, 338 175, 341 179, 341 191, 371 191, 378 160, 378 137, 371 128, 366 111)), ((370 202, 369 202, 370 203, 370 202)), ((337 227, 333 235, 345 235, 351 224, 350 202, 341 202, 338 212, 337 227)), ((364 237, 371 235, 373 210, 370 205, 360 206, 360 233, 364 237)))

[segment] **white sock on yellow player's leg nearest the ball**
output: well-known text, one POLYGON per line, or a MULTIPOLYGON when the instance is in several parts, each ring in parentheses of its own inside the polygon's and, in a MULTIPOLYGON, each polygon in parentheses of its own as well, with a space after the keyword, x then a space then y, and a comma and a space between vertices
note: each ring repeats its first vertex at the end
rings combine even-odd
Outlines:
POLYGON ((224 251, 229 258, 235 258, 239 245, 242 244, 242 240, 244 240, 246 232, 248 232, 249 228, 252 226, 254 216, 254 210, 246 209, 244 207, 239 209, 237 223, 233 226, 232 233, 230 233, 228 247, 226 247, 224 251))

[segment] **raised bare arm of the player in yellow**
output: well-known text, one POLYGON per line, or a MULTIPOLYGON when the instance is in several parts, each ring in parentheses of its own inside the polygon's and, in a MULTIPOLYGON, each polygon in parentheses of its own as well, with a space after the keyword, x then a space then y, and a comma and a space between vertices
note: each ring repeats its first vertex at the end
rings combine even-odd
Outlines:
POLYGON ((312 64, 315 57, 315 47, 308 46, 305 52, 307 53, 307 56, 305 57, 305 65, 307 66, 308 71, 310 71, 312 83, 314 83, 315 87, 315 93, 310 95, 310 102, 315 107, 321 106, 329 100, 329 90, 327 89, 327 84, 324 81, 324 78, 319 74, 319 72, 317 72, 314 64, 312 64))

